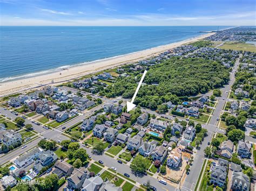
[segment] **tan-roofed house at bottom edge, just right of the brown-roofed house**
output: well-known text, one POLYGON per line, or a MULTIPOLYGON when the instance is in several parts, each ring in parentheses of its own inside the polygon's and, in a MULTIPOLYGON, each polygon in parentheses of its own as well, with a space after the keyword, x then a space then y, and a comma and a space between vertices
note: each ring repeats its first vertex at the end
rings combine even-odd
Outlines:
POLYGON ((80 167, 79 169, 75 168, 68 180, 67 188, 72 190, 79 190, 82 188, 83 183, 86 179, 87 171, 85 167, 80 167))

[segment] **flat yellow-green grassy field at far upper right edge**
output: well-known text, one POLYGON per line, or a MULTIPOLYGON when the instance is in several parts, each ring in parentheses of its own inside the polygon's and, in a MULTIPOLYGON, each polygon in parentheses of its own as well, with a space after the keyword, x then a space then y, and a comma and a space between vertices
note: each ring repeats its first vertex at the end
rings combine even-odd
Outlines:
POLYGON ((224 45, 219 46, 219 48, 233 49, 235 51, 256 52, 256 47, 253 44, 236 43, 236 42, 226 42, 224 43, 224 45))

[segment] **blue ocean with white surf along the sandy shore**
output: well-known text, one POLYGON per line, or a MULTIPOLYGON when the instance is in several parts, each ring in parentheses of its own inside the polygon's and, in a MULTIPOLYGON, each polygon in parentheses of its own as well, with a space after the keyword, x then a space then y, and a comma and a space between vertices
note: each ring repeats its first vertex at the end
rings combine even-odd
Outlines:
MULTIPOLYGON (((220 26, 219 30, 230 26, 220 26)), ((200 36, 218 26, 0 26, 0 82, 200 36)))

